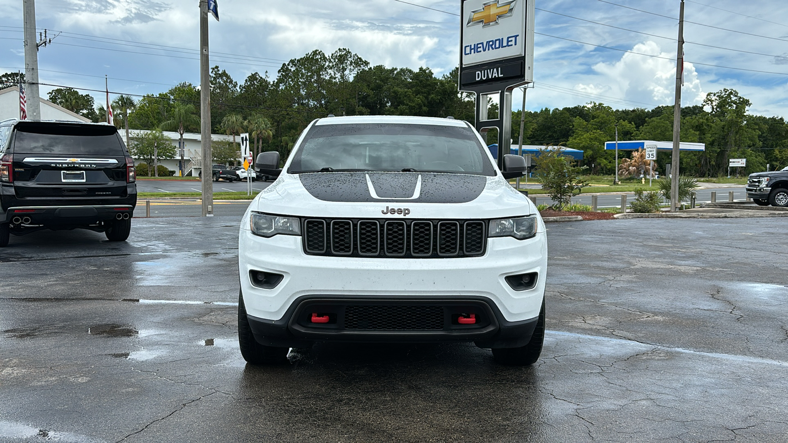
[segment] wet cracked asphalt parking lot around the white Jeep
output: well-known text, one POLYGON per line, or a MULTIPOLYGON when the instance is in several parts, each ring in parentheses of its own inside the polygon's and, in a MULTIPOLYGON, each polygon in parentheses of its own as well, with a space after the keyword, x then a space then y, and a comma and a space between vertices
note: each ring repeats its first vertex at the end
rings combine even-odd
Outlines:
POLYGON ((0 249, 0 441, 788 440, 782 218, 548 225, 533 367, 318 344, 250 367, 237 217, 0 249))

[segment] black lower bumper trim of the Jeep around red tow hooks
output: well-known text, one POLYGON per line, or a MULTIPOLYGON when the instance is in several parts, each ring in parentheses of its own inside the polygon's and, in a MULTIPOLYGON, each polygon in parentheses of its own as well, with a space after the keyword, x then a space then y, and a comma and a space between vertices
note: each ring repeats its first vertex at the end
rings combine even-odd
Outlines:
MULTIPOLYGON (((480 348, 516 348, 527 344, 538 318, 508 322, 494 303, 483 297, 431 297, 429 299, 366 296, 303 296, 278 320, 248 315, 255 340, 266 346, 308 348, 315 341, 367 343, 435 343, 473 341, 480 348), (351 319, 349 309, 371 308, 388 315, 403 315, 407 308, 440 311, 443 316, 433 329, 365 329, 351 319), (326 323, 310 322, 319 312, 326 323), (459 324, 458 315, 474 313, 475 324, 459 324)), ((418 325, 414 318, 384 321, 418 325)), ((367 325, 366 327, 371 327, 367 325)), ((418 328, 418 326, 414 326, 418 328)))

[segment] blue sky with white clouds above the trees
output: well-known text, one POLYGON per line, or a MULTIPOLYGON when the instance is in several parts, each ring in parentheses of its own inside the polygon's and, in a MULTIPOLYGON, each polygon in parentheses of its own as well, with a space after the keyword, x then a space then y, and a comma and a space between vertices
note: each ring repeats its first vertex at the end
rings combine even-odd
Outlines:
MULTIPOLYGON (((438 74, 459 61, 458 0, 218 2, 211 65, 239 83, 253 72, 276 76, 284 61, 314 49, 347 47, 372 65, 428 66, 438 74)), ((129 94, 199 84, 197 0, 35 3, 37 27, 61 32, 39 51, 43 83, 103 89, 106 74, 110 91, 129 94)), ((0 0, 0 7, 0 73, 24 71, 22 2, 0 0)), ((526 109, 673 104, 678 0, 537 0, 536 7, 526 109)), ((788 117, 788 2, 686 0, 685 14, 682 104, 729 87, 753 102, 752 114, 788 117)))

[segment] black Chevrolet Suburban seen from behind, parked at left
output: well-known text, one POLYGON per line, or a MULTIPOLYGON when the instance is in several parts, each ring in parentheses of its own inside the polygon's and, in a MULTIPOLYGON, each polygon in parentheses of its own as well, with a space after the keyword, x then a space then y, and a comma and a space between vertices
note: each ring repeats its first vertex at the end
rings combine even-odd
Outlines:
POLYGON ((114 126, 0 121, 0 247, 41 229, 123 241, 136 204, 134 160, 114 126))

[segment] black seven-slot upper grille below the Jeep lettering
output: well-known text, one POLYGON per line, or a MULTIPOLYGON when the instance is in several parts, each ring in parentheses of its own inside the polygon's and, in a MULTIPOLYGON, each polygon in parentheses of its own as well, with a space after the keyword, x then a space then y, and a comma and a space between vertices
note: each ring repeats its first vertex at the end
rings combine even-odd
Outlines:
POLYGON ((323 219, 303 221, 308 255, 438 259, 483 255, 481 220, 323 219))

